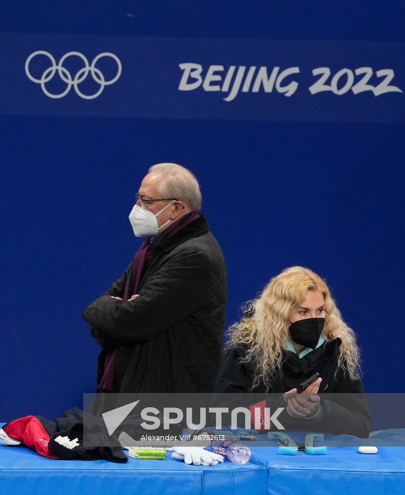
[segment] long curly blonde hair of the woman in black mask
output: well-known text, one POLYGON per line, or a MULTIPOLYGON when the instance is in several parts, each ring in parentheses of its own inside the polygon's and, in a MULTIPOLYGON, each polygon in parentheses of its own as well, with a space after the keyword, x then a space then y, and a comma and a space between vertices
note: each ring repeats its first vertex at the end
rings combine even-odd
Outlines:
POLYGON ((253 364, 253 387, 261 380, 266 384, 280 372, 283 351, 289 343, 290 320, 307 291, 323 294, 325 326, 322 336, 325 341, 342 340, 338 369, 351 380, 359 377, 360 354, 354 331, 342 320, 325 281, 308 268, 292 266, 270 280, 261 295, 250 302, 242 320, 228 331, 227 348, 241 344, 248 348, 241 361, 253 364))

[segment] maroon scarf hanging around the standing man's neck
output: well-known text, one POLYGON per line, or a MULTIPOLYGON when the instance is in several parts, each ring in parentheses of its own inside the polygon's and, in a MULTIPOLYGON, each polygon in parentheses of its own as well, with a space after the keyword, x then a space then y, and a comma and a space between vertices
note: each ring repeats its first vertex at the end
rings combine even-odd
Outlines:
MULTIPOLYGON (((125 284, 124 295, 122 297, 124 302, 128 301, 128 299, 130 299, 134 294, 137 294, 145 266, 148 262, 149 256, 151 255, 152 247, 157 246, 163 239, 170 238, 179 233, 187 227, 187 225, 199 218, 199 216, 200 215, 196 211, 188 213, 187 215, 184 215, 184 217, 180 218, 180 220, 177 220, 177 222, 174 222, 173 225, 167 227, 167 229, 165 229, 161 234, 158 234, 154 238, 145 239, 139 251, 135 253, 132 260, 131 270, 125 284)), ((112 391, 116 353, 117 349, 114 348, 114 350, 109 352, 105 358, 104 373, 99 383, 99 390, 101 392, 112 391)))

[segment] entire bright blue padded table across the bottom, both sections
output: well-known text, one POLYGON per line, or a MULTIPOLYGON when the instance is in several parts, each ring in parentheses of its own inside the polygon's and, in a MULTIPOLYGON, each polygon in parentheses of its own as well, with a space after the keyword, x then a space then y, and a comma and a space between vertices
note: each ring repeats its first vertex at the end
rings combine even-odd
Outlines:
MULTIPOLYGON (((347 436, 330 437, 335 446, 328 446, 325 455, 282 455, 275 442, 269 442, 272 446, 252 443, 248 464, 238 466, 225 461, 212 467, 188 466, 171 459, 170 453, 164 460, 130 458, 126 464, 117 464, 104 460, 54 460, 26 447, 0 446, 0 494, 405 493, 405 447, 379 446, 377 454, 366 455, 360 454, 357 446, 339 446, 340 437, 347 436)), ((294 438, 304 440, 300 436, 294 438)), ((344 441, 347 443, 348 439, 344 441)), ((367 443, 372 445, 373 441, 367 443)))

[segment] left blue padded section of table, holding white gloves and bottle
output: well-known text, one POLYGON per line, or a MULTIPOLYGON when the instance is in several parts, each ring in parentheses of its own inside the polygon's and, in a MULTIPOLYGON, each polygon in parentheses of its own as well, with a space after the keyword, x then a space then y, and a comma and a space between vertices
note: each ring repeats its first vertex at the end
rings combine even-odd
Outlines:
POLYGON ((125 464, 62 461, 26 447, 0 445, 0 494, 267 494, 268 468, 260 461, 189 466, 170 455, 164 460, 129 458, 125 464))

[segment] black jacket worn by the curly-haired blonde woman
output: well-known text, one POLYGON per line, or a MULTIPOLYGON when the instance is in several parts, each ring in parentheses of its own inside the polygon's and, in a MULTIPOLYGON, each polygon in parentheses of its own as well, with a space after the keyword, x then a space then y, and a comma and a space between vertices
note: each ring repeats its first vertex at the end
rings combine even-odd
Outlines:
POLYGON ((300 359, 297 354, 286 350, 282 372, 276 378, 253 387, 253 364, 243 364, 246 347, 229 349, 222 358, 214 392, 221 394, 270 394, 266 396, 270 411, 277 407, 286 407, 282 395, 296 388, 306 378, 319 373, 322 382, 319 388, 321 396, 321 419, 298 420, 291 418, 286 410, 279 416, 285 429, 321 431, 335 435, 347 434, 368 438, 371 416, 364 394, 361 379, 350 380, 342 369, 337 367, 339 346, 342 341, 335 339, 324 343, 300 359))

